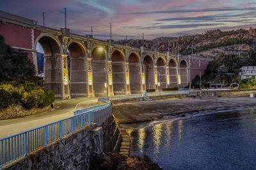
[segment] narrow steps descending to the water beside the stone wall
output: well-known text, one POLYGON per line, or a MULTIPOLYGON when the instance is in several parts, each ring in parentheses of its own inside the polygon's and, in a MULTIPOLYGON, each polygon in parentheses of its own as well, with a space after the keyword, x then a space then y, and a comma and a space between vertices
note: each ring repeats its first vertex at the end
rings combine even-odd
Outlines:
POLYGON ((121 129, 120 132, 121 132, 121 135, 122 135, 122 143, 121 143, 121 147, 120 147, 119 153, 129 157, 129 155, 130 155, 131 137, 126 132, 126 130, 124 130, 124 129, 121 129))

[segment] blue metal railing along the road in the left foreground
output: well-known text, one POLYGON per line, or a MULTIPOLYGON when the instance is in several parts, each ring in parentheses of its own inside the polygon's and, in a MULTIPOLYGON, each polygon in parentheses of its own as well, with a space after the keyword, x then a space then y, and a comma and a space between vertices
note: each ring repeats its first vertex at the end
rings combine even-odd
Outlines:
POLYGON ((76 114, 74 112, 74 116, 70 118, 0 139, 0 167, 87 125, 93 125, 94 112, 99 109, 106 109, 111 105, 109 101, 104 99, 101 99, 101 102, 106 102, 106 104, 88 107, 79 112, 76 111, 76 114))

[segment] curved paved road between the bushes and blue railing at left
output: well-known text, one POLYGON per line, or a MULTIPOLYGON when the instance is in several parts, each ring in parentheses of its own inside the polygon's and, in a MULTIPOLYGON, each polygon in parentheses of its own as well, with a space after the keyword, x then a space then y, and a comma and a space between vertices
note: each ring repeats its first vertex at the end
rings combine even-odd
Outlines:
POLYGON ((56 100, 54 108, 40 114, 33 114, 22 118, 0 120, 0 139, 9 135, 18 134, 31 128, 40 127, 54 121, 73 116, 77 109, 84 109, 97 105, 98 98, 79 97, 70 100, 56 100))

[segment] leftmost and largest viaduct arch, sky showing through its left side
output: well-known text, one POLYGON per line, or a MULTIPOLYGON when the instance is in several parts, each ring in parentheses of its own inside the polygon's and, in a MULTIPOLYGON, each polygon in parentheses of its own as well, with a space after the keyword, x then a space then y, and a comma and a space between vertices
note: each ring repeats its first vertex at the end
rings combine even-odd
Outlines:
POLYGON ((41 76, 44 77, 45 89, 51 89, 56 96, 61 96, 62 65, 61 50, 58 42, 51 36, 42 36, 38 42, 36 42, 36 50, 38 50, 38 52, 36 52, 36 58, 40 62, 40 66, 38 67, 40 69, 38 69, 38 71, 40 71, 41 76))

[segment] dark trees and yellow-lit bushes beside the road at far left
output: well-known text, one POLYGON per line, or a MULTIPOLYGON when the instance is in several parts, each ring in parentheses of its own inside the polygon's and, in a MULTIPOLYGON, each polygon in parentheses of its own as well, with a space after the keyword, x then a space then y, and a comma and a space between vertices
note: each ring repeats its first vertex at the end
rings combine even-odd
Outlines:
POLYGON ((54 93, 43 88, 42 78, 35 73, 28 54, 6 45, 0 35, 0 109, 15 104, 42 108, 54 102, 54 93))

